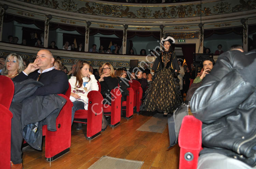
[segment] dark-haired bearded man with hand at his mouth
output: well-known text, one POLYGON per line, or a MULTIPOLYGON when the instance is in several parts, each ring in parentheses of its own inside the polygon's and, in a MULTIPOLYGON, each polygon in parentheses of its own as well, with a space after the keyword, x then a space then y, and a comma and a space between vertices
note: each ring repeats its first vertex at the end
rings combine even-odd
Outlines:
POLYGON ((202 81, 205 75, 211 72, 213 65, 215 64, 214 60, 210 57, 204 58, 202 63, 203 63, 203 73, 201 76, 198 76, 195 78, 194 83, 199 83, 200 81, 202 81))

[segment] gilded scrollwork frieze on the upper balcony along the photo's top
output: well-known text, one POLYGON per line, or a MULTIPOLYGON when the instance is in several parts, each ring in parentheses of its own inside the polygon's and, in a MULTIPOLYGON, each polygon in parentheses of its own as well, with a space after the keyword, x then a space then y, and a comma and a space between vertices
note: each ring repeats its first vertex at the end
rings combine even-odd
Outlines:
POLYGON ((200 15, 211 16, 247 11, 255 9, 256 7, 256 0, 226 0, 221 2, 203 3, 202 11, 200 10, 200 4, 175 6, 125 6, 79 0, 31 0, 30 3, 82 14, 138 19, 186 18, 200 15))

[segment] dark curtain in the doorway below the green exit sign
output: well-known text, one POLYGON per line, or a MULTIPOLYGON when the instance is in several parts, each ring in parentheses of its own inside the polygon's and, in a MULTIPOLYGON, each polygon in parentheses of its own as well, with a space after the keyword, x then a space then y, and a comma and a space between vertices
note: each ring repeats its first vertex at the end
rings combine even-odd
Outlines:
POLYGON ((187 66, 191 70, 191 63, 193 63, 193 56, 196 53, 196 44, 175 44, 175 47, 182 48, 182 53, 186 59, 187 66))

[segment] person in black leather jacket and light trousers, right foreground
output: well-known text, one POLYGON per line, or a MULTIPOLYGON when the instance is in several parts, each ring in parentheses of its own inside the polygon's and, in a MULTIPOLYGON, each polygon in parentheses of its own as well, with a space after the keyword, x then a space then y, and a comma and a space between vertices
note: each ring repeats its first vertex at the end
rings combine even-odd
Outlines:
POLYGON ((255 58, 255 50, 219 55, 191 98, 191 112, 203 122, 199 169, 256 166, 255 58))

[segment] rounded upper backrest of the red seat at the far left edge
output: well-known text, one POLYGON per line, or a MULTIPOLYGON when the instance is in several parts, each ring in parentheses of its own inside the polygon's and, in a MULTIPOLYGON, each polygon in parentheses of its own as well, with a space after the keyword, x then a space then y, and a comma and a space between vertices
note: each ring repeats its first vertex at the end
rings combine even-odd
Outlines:
POLYGON ((9 77, 0 75, 0 89, 2 91, 0 92, 0 104, 9 109, 14 94, 13 81, 9 77))

